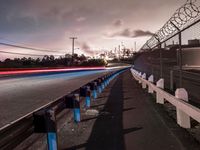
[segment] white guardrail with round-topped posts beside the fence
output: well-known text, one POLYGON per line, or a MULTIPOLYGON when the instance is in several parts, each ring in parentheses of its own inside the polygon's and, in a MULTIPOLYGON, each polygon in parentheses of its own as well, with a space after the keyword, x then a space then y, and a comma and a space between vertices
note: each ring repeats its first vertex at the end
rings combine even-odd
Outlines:
POLYGON ((142 84, 142 88, 148 87, 149 93, 156 93, 156 102, 164 104, 165 100, 176 107, 177 123, 183 128, 191 128, 190 117, 200 123, 200 109, 188 103, 188 93, 184 88, 176 89, 175 96, 164 91, 164 79, 160 79, 154 84, 154 76, 147 78, 145 73, 141 73, 131 68, 133 77, 142 84))

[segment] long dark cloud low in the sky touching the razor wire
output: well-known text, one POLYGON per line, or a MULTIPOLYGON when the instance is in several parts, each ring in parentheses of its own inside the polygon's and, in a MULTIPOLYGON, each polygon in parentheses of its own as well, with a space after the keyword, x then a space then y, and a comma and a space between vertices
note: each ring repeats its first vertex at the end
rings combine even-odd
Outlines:
POLYGON ((143 30, 131 30, 126 28, 122 31, 107 34, 108 37, 127 37, 127 38, 136 38, 142 36, 152 36, 154 33, 150 31, 143 31, 143 30))

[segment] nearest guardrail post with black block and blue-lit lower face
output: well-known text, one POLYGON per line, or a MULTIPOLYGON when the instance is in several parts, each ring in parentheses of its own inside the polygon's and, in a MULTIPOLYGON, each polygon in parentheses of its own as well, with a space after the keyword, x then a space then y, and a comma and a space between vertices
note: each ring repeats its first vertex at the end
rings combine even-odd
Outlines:
POLYGON ((57 150, 56 117, 53 109, 40 110, 33 114, 34 132, 46 133, 48 150, 57 150))

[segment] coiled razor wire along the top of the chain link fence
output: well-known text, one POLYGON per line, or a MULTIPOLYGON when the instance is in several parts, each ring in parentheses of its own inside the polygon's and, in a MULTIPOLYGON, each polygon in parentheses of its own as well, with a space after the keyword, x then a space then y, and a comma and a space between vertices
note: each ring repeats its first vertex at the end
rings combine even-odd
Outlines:
POLYGON ((197 0, 187 0, 172 17, 142 46, 141 50, 151 49, 160 42, 165 41, 176 33, 180 32, 200 16, 200 4, 197 0))

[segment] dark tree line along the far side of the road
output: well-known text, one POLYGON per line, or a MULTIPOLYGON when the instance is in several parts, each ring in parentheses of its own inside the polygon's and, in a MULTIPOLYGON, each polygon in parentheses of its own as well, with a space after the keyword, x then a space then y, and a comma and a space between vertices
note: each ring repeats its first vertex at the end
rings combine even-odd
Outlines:
POLYGON ((33 67, 69 67, 69 66, 105 66, 103 59, 91 59, 85 55, 66 54, 55 58, 53 55, 45 55, 43 58, 7 58, 0 61, 0 68, 33 68, 33 67))

